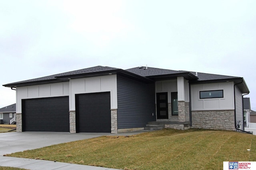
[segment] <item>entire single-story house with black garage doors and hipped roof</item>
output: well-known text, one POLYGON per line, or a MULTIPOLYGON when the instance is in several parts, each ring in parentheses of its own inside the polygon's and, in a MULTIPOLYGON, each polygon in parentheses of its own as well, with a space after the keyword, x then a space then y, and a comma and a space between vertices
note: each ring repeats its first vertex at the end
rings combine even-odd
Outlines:
POLYGON ((17 131, 70 133, 236 130, 250 92, 242 77, 144 66, 95 66, 3 86, 16 88, 17 131))

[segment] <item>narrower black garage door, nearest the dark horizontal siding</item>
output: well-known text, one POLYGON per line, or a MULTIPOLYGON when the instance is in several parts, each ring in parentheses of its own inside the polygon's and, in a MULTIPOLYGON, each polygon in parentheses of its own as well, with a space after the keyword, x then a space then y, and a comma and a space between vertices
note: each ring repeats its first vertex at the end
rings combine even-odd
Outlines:
POLYGON ((111 132, 110 92, 76 95, 77 132, 111 132))

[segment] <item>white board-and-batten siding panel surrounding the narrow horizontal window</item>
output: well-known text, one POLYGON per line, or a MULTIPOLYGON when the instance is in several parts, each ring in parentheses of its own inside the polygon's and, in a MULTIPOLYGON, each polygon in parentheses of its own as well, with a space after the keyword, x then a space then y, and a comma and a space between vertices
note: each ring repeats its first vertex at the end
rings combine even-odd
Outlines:
POLYGON ((192 111, 232 110, 234 109, 233 82, 220 82, 191 85, 192 111), (200 99, 200 91, 223 90, 223 98, 200 99))

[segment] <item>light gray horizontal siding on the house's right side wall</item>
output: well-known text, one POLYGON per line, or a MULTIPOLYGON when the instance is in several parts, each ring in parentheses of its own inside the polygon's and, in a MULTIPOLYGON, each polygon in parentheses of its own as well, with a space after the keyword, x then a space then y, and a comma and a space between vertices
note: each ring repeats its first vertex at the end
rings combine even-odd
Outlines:
MULTIPOLYGON (((239 88, 235 86, 235 104, 236 104, 236 122, 240 121, 240 124, 244 126, 244 113, 243 113, 243 96, 239 88)), ((237 123, 236 123, 237 124, 237 123)), ((240 126, 240 129, 243 127, 240 126)))

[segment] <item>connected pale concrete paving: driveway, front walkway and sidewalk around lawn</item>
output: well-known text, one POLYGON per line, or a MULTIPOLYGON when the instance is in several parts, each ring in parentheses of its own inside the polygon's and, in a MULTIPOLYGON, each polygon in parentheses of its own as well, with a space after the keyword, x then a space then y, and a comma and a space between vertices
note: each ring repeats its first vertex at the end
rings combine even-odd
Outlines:
POLYGON ((103 135, 129 136, 150 130, 134 131, 128 133, 63 133, 63 132, 11 132, 0 133, 0 166, 25 168, 29 170, 115 170, 98 166, 70 164, 49 160, 35 160, 3 156, 14 152, 37 149, 50 145, 90 139, 103 135))

